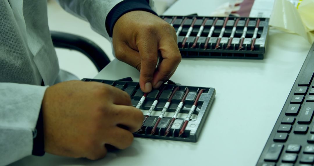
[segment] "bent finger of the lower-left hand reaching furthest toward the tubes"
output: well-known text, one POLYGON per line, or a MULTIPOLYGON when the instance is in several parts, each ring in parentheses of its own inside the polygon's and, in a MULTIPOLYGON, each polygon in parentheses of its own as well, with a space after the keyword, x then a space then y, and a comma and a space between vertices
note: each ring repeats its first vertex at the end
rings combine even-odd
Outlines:
POLYGON ((137 131, 143 123, 143 113, 131 106, 115 105, 115 122, 118 126, 122 125, 130 132, 137 131))

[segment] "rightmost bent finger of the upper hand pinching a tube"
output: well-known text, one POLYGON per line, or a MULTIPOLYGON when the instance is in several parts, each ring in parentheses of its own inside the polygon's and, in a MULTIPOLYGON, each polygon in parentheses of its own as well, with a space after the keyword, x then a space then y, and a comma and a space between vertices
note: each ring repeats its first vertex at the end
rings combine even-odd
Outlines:
POLYGON ((154 73, 154 88, 159 88, 163 82, 169 80, 181 62, 181 53, 174 38, 161 40, 159 50, 162 60, 154 73))

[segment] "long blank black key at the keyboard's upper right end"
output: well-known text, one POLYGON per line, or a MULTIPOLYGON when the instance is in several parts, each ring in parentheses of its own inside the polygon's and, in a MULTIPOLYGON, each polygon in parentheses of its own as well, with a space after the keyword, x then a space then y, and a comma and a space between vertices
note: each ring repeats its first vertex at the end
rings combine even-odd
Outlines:
POLYGON ((313 74, 314 74, 314 54, 309 53, 311 55, 309 61, 306 64, 306 67, 304 69, 303 75, 300 78, 299 85, 300 86, 309 86, 313 79, 313 74))

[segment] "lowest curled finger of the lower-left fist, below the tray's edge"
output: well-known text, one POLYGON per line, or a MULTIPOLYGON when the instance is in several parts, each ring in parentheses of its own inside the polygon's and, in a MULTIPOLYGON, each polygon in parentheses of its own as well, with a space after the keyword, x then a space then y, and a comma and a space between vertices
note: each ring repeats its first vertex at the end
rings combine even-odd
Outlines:
POLYGON ((106 144, 110 144, 118 149, 125 149, 133 142, 133 134, 128 130, 115 127, 111 129, 110 133, 111 136, 107 138, 106 144))

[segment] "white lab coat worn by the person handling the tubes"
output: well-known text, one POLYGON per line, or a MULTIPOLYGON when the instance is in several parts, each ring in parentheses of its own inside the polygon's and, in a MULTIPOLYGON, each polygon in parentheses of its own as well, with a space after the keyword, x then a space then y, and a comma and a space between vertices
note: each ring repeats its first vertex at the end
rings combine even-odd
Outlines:
MULTIPOLYGON (((58 0, 109 40, 106 16, 121 1, 58 0)), ((0 12, 0 165, 7 165, 32 154, 45 90, 67 73, 59 70, 46 0, 0 0, 0 12)))

